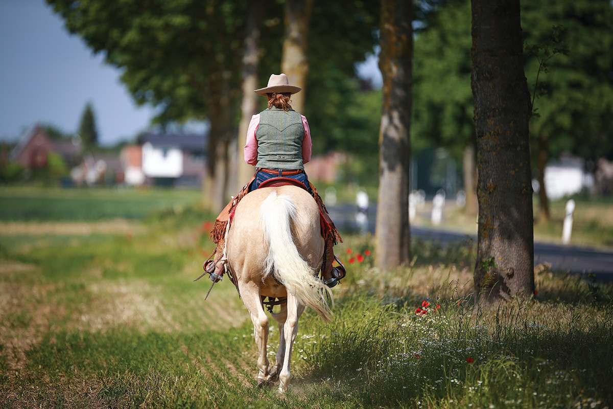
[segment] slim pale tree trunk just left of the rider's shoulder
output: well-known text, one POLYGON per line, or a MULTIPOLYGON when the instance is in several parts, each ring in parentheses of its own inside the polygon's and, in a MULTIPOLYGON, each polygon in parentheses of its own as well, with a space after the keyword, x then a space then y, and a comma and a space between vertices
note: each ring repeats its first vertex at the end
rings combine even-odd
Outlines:
POLYGON ((260 39, 260 30, 258 28, 260 16, 262 12, 262 1, 253 0, 249 3, 248 17, 245 27, 245 55, 243 55, 243 102, 241 104, 242 116, 238 126, 238 155, 237 155, 237 186, 236 191, 248 182, 249 178, 254 174, 255 167, 249 165, 243 159, 243 147, 247 143, 247 129, 251 117, 258 112, 257 102, 261 96, 253 92, 259 88, 257 86, 257 66, 260 56, 257 51, 257 45, 260 39))

